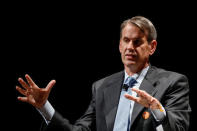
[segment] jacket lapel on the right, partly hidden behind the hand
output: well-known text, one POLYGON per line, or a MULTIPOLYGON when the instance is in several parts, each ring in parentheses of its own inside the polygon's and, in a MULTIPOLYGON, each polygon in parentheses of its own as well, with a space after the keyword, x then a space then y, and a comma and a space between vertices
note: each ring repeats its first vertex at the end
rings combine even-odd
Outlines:
MULTIPOLYGON (((145 76, 144 80, 142 81, 140 85, 140 90, 146 91, 148 94, 153 95, 155 92, 155 87, 153 86, 156 79, 155 79, 155 71, 152 67, 150 67, 149 71, 147 72, 147 75, 145 76)), ((133 122, 137 118, 137 116, 140 114, 140 112, 143 110, 143 106, 141 106, 138 103, 134 104, 132 118, 131 118, 131 126, 133 125, 133 122)))

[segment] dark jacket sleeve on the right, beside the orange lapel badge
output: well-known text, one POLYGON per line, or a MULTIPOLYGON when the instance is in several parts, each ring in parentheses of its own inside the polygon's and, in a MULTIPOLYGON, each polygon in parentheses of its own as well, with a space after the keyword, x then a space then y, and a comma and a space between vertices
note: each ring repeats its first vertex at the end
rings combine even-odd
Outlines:
POLYGON ((171 78, 171 84, 162 100, 166 118, 162 125, 164 131, 187 131, 189 128, 189 84, 185 76, 171 78))

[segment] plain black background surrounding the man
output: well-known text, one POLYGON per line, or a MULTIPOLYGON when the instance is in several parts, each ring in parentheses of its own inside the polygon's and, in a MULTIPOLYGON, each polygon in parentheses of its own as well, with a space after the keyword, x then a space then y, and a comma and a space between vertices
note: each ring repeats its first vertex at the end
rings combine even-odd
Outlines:
POLYGON ((42 117, 31 105, 17 100, 17 79, 26 73, 39 87, 56 79, 49 101, 74 122, 89 104, 92 83, 123 70, 118 50, 121 22, 142 15, 158 31, 151 64, 189 79, 192 130, 196 110, 196 16, 192 5, 132 1, 2 4, 2 125, 6 130, 39 130, 42 117))

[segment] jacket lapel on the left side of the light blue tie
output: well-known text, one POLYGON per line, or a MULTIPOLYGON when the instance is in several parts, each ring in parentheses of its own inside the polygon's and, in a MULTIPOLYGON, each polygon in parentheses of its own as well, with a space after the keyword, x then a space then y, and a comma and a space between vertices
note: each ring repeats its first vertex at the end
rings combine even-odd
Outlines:
POLYGON ((124 72, 116 75, 114 78, 107 82, 103 91, 105 102, 105 119, 109 131, 113 130, 115 116, 118 108, 121 87, 124 79, 124 72))

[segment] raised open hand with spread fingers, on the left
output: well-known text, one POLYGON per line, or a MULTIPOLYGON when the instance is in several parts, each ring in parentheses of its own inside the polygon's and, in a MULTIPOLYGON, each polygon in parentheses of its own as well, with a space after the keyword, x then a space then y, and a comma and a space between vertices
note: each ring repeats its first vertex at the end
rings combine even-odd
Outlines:
POLYGON ((18 97, 18 100, 30 103, 36 108, 41 108, 47 101, 51 89, 56 81, 51 80, 46 88, 39 88, 29 75, 25 75, 25 78, 27 83, 22 78, 18 79, 23 88, 16 86, 16 90, 25 96, 18 97))

